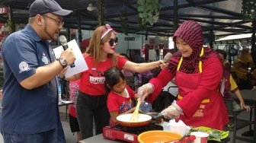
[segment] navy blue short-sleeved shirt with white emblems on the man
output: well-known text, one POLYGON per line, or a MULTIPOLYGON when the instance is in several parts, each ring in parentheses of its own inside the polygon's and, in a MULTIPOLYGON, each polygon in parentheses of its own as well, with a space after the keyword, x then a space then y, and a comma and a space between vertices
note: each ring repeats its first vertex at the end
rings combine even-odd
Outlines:
POLYGON ((56 129, 59 123, 56 78, 32 90, 20 84, 34 75, 38 67, 55 60, 48 41, 41 40, 27 24, 24 30, 12 33, 5 40, 2 56, 5 84, 0 130, 34 134, 56 129))

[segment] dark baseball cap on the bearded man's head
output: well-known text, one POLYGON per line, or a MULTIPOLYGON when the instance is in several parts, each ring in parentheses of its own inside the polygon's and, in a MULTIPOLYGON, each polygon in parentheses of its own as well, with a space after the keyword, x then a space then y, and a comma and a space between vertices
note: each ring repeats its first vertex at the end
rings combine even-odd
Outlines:
POLYGON ((66 16, 72 13, 72 11, 62 9, 59 4, 53 0, 36 0, 30 5, 30 17, 49 12, 60 16, 66 16))

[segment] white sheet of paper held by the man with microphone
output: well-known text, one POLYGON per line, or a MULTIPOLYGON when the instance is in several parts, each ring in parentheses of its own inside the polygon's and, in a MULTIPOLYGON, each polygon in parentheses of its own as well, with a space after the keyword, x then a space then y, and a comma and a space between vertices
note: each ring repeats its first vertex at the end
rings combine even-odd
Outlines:
MULTIPOLYGON (((72 47, 72 50, 75 52, 75 67, 71 68, 68 66, 68 69, 66 71, 65 77, 69 78, 72 75, 78 74, 82 71, 88 70, 88 65, 85 62, 84 57, 82 56, 82 52, 79 49, 78 44, 76 43, 75 40, 71 40, 68 42, 68 46, 72 47)), ((63 52, 64 49, 62 46, 58 46, 53 49, 53 52, 55 54, 56 59, 60 57, 61 52, 63 52)))

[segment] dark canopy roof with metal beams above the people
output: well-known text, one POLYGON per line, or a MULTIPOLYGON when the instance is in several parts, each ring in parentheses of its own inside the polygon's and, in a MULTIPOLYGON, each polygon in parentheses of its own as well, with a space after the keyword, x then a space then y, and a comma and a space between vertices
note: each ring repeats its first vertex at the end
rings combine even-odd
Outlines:
MULTIPOLYGON (((0 5, 10 5, 11 19, 14 23, 27 23, 31 2, 34 0, 0 0, 0 5)), ((120 26, 120 11, 127 11, 128 33, 145 35, 172 36, 174 34, 174 9, 178 8, 178 24, 183 21, 198 21, 203 27, 206 37, 223 36, 238 33, 251 33, 251 22, 243 21, 240 17, 242 0, 161 0, 158 21, 147 26, 147 31, 139 28, 137 0, 56 0, 62 8, 74 11, 72 17, 65 19, 64 27, 94 30, 98 26, 98 8, 88 11, 89 4, 97 6, 103 2, 104 24, 110 24, 118 32, 120 26), (174 5, 174 2, 178 5, 174 5), (210 34, 211 33, 211 34, 210 34)), ((0 15, 2 17, 2 15, 0 15)), ((2 17, 2 19, 5 17, 2 17)))

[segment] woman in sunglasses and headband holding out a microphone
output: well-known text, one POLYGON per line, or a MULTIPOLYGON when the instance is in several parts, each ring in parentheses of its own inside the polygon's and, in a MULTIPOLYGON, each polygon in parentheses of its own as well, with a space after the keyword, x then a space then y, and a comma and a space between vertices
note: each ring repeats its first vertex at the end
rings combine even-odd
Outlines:
POLYGON ((104 71, 110 67, 117 67, 140 73, 157 68, 161 64, 166 66, 162 60, 138 64, 120 56, 115 52, 118 43, 116 33, 108 24, 97 27, 84 54, 88 70, 66 78, 69 81, 81 78, 77 116, 82 139, 93 135, 93 121, 94 135, 101 134, 103 127, 109 125, 110 114, 107 110, 107 95, 104 90, 104 71))

